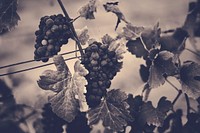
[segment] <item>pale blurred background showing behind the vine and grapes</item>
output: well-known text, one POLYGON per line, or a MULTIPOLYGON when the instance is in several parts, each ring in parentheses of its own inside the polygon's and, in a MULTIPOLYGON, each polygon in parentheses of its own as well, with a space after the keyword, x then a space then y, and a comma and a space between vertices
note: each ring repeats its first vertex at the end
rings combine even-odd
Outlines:
MULTIPOLYGON (((53 6, 50 5, 50 1, 53 0, 19 0, 18 13, 21 21, 15 29, 0 36, 0 66, 33 59, 35 43, 34 32, 38 29, 40 18, 45 15, 62 13, 56 1, 53 1, 53 6)), ((63 0, 63 3, 70 16, 75 18, 78 16, 78 9, 87 1, 88 0, 63 0)), ((96 19, 85 20, 84 18, 80 18, 74 22, 75 28, 82 29, 87 26, 91 38, 95 38, 96 40, 100 40, 101 37, 107 33, 114 37, 116 32, 120 32, 124 23, 120 24, 116 32, 114 31, 117 18, 114 14, 104 11, 102 4, 106 1, 108 0, 98 1, 98 9, 97 13, 95 13, 96 19)), ((167 30, 183 25, 189 1, 191 0, 119 0, 119 8, 124 13, 126 19, 136 26, 152 27, 159 22, 161 29, 167 30)), ((189 42, 187 42, 187 46, 190 47, 189 42)), ((67 45, 62 47, 61 53, 74 49, 75 43, 70 41, 67 45)), ((65 56, 65 58, 67 57, 69 56, 65 56)), ((183 52, 181 58, 192 58, 192 60, 196 60, 196 58, 187 51, 183 52)), ((51 61, 52 60, 50 60, 50 62, 51 61)), ((128 93, 133 93, 133 95, 140 94, 144 83, 139 76, 139 66, 141 63, 144 63, 144 61, 135 58, 128 52, 124 55, 123 61, 123 68, 112 81, 111 88, 120 88, 128 93)), ((66 62, 72 73, 74 62, 75 60, 66 62)), ((34 62, 27 65, 3 69, 0 70, 0 73, 41 64, 43 63, 34 62)), ((38 87, 36 81, 39 79, 39 75, 47 69, 55 70, 55 67, 51 65, 16 74, 11 77, 5 76, 0 78, 5 79, 10 86, 13 86, 10 79, 18 80, 19 83, 13 86, 14 96, 18 103, 25 103, 31 106, 37 105, 40 107, 43 102, 46 102, 47 93, 38 87), (43 101, 38 103, 38 100, 41 101, 41 99, 43 99, 43 101)), ((170 80, 180 87, 179 83, 173 78, 170 80)), ((173 99, 176 93, 177 92, 166 83, 164 86, 153 90, 149 99, 153 100, 154 105, 156 105, 158 99, 163 94, 165 94, 167 98, 173 99)), ((177 107, 181 107, 182 105, 183 100, 179 100, 177 107)))

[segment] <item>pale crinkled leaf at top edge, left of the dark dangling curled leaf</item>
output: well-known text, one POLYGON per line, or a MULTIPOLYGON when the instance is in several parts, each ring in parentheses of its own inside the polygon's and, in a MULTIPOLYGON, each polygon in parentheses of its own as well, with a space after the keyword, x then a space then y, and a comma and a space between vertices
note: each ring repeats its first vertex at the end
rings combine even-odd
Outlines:
POLYGON ((95 19, 94 12, 97 12, 96 0, 90 0, 85 6, 79 9, 79 14, 85 19, 95 19))

